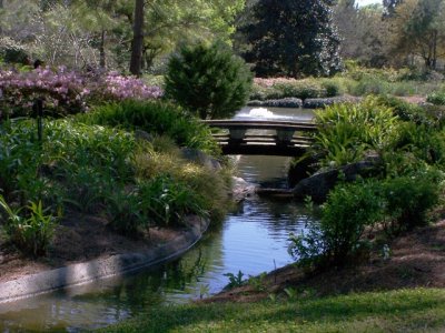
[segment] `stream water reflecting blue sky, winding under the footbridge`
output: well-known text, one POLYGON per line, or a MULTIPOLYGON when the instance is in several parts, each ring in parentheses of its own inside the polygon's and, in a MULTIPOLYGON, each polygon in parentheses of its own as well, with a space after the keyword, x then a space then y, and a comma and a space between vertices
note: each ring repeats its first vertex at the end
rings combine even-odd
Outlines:
MULTIPOLYGON (((249 114, 250 110, 243 109, 239 114, 249 114)), ((298 115, 298 109, 289 109, 296 115, 278 110, 279 118, 310 120, 307 113, 298 115)), ((245 180, 275 188, 287 185, 288 158, 234 159, 237 160, 238 175, 245 180)), ((91 330, 144 313, 161 303, 184 303, 211 295, 228 283, 226 273, 241 271, 247 279, 290 263, 288 235, 300 232, 308 221, 310 218, 305 209, 295 202, 249 198, 179 260, 123 279, 106 279, 0 305, 0 331, 91 330)))

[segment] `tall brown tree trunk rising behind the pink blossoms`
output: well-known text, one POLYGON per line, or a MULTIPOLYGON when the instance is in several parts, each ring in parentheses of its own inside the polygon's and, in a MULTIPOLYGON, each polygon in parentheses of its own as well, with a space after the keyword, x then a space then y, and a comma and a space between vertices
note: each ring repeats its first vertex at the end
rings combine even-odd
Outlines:
POLYGON ((135 21, 132 26, 130 72, 140 77, 144 46, 144 0, 135 0, 135 21))

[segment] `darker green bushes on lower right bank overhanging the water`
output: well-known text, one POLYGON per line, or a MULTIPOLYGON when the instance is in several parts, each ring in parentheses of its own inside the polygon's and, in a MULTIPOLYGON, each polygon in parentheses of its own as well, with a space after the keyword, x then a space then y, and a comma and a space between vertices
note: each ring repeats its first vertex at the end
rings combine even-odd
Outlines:
POLYGON ((306 234, 291 235, 290 254, 299 265, 339 266, 369 249, 366 230, 383 228, 388 235, 427 223, 426 213, 439 194, 435 173, 342 183, 329 192, 319 223, 306 234))

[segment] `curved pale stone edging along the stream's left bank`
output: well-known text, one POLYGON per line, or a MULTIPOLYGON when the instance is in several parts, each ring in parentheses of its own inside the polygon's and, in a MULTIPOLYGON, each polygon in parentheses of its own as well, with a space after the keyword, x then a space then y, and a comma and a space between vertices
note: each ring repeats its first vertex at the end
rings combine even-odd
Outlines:
POLYGON ((43 271, 0 283, 0 303, 37 296, 106 278, 120 276, 131 271, 179 258, 202 238, 202 234, 209 226, 209 221, 201 219, 196 219, 196 221, 191 223, 189 231, 155 249, 70 264, 65 268, 43 271))

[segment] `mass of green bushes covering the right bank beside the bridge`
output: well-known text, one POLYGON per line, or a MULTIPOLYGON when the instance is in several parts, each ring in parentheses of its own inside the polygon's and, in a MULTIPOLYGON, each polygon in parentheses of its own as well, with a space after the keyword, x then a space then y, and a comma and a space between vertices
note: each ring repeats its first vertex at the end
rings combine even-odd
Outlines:
MULTIPOLYGON (((444 180, 443 122, 424 109, 388 97, 335 104, 316 113, 312 157, 342 167, 373 154, 374 178, 339 183, 322 206, 322 220, 294 235, 290 252, 301 265, 343 265, 370 243, 366 230, 387 235, 425 225, 444 180)), ((364 250, 364 251, 362 251, 364 250)), ((365 251, 366 252, 366 251, 365 251)))

